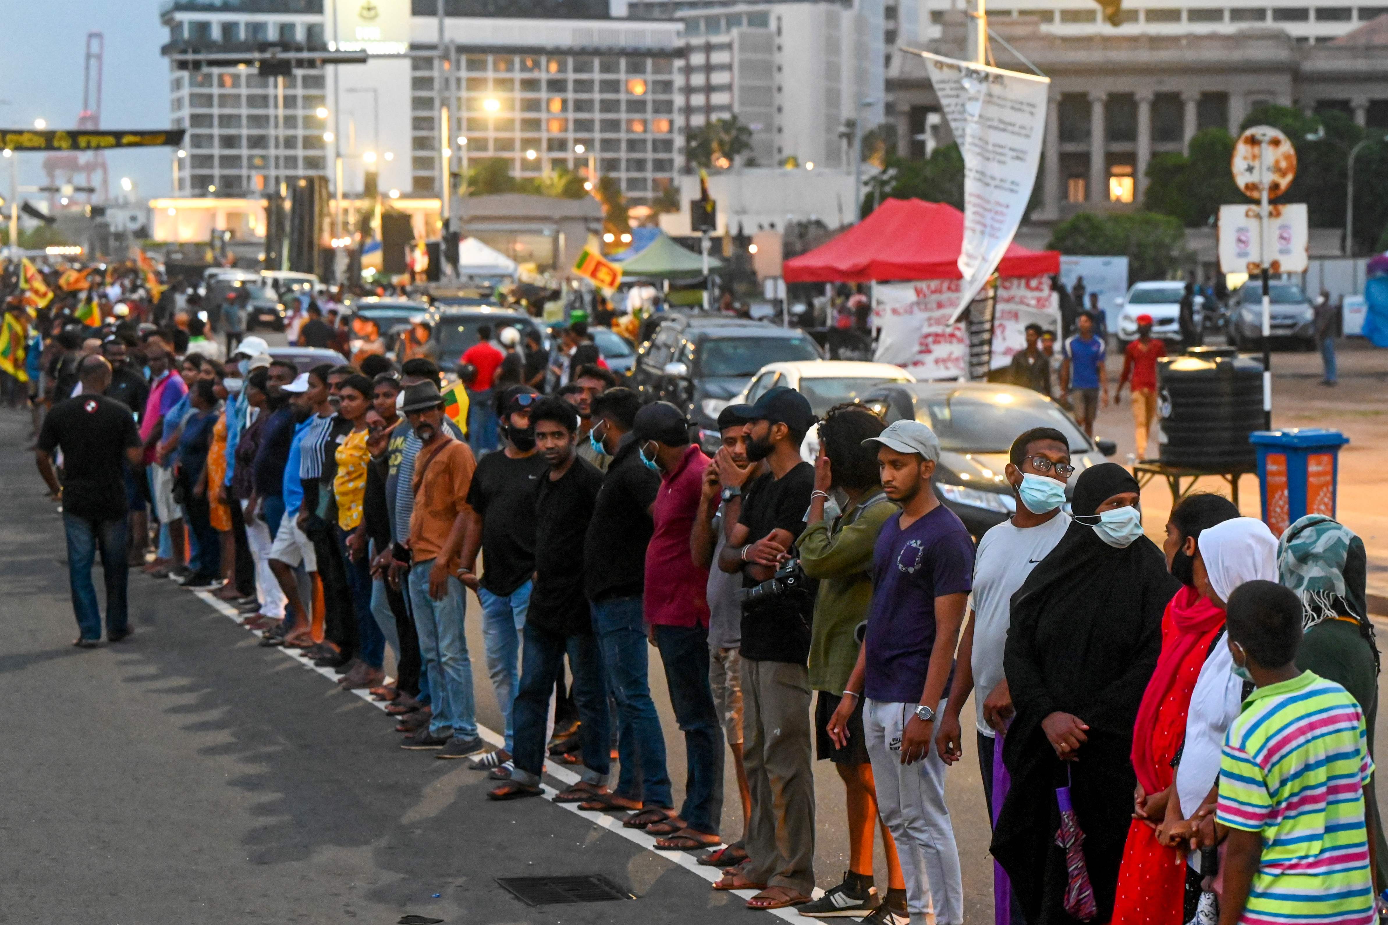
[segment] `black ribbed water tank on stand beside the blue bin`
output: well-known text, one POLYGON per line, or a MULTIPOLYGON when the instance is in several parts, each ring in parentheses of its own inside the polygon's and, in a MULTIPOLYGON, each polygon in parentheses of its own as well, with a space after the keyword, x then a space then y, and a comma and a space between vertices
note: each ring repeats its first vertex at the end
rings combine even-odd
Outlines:
POLYGON ((1196 347, 1158 361, 1162 462, 1231 469, 1258 460, 1248 435, 1263 429, 1263 365, 1233 347, 1196 347))

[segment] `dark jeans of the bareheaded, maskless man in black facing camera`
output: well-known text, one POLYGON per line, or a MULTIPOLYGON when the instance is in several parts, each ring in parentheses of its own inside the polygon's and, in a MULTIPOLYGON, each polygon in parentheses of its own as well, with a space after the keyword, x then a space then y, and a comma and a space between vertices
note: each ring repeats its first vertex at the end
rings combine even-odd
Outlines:
POLYGON ((602 686, 602 653, 597 639, 591 635, 558 635, 526 621, 525 646, 520 649, 520 689, 514 706, 516 731, 511 756, 516 767, 511 779, 516 784, 533 786, 540 782, 550 698, 554 696, 554 678, 559 674, 565 653, 573 671, 573 700, 579 707, 579 739, 583 742, 583 768, 579 775, 589 784, 601 785, 611 770, 607 691, 602 686))

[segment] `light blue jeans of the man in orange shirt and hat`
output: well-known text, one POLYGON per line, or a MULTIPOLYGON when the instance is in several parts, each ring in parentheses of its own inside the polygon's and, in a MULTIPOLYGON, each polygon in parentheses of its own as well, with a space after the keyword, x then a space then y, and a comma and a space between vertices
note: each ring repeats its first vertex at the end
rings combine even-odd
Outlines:
POLYGON ((452 729, 458 738, 475 739, 477 717, 472 700, 472 659, 468 657, 468 637, 462 631, 466 598, 462 596, 462 582, 452 576, 448 576, 448 594, 443 600, 429 596, 433 563, 433 559, 426 559, 409 567, 409 600, 433 706, 429 731, 443 735, 444 729, 452 729))

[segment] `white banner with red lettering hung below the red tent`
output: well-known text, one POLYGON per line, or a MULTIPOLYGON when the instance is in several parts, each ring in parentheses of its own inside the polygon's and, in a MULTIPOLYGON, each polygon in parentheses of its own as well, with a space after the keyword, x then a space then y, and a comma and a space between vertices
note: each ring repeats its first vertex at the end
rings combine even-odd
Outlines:
MULTIPOLYGON (((895 363, 919 380, 966 379, 969 331, 954 320, 963 280, 933 279, 917 283, 874 283, 872 326, 879 363, 895 363)), ((1006 366, 1026 347, 1027 325, 1060 329, 1060 311, 1051 279, 1006 277, 998 280, 992 309, 992 369, 1006 366)))

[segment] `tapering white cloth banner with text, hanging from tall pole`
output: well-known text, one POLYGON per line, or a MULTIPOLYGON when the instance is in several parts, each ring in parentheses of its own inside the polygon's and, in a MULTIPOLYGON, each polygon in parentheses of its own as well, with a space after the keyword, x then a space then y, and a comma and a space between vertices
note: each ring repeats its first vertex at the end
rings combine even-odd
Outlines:
POLYGON ((958 320, 998 268, 1031 198, 1051 79, 904 50, 926 60, 963 154, 963 284, 951 315, 958 320))

